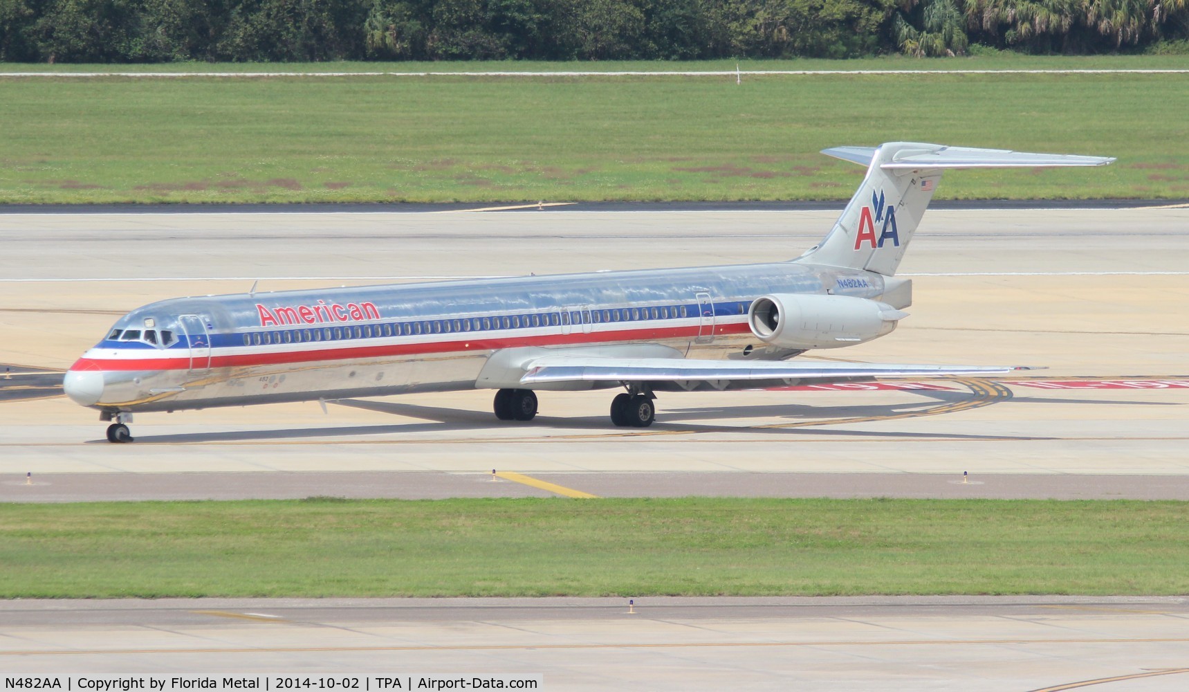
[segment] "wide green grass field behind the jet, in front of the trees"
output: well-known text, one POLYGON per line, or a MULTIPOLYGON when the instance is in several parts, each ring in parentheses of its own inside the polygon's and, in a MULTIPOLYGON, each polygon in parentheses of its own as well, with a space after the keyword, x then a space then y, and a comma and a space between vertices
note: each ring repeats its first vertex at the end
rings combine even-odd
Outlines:
POLYGON ((847 199, 817 151, 897 139, 1119 157, 939 197, 1183 199, 1185 113, 1189 75, 0 77, 0 203, 847 199))

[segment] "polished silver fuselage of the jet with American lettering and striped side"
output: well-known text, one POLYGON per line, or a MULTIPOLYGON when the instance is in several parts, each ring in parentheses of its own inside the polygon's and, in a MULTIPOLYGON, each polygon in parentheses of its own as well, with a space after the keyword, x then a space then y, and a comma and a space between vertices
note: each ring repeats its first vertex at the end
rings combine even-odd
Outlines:
POLYGON ((492 354, 517 350, 776 359, 797 352, 753 335, 755 298, 883 282, 786 262, 176 298, 114 325, 172 344, 105 339, 71 371, 102 372, 92 405, 117 413, 508 386, 492 354))

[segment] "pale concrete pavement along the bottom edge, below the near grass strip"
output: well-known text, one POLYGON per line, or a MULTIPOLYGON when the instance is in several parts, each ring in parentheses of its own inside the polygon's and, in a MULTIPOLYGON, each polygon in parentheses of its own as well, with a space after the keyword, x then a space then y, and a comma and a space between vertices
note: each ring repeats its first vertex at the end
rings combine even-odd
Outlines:
POLYGON ((0 602, 6 674, 540 674, 543 690, 1183 690, 1144 597, 0 602))

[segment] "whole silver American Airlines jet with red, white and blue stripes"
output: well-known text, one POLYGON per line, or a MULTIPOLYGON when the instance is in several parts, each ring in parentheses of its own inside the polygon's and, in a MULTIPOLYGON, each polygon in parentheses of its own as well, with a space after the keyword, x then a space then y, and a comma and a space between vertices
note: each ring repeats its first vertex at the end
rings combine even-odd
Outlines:
POLYGON ((139 411, 479 388, 497 390, 499 420, 528 421, 534 390, 622 388, 611 421, 647 427, 658 391, 1007 372, 788 359, 907 315, 895 270, 945 169, 1114 161, 913 143, 823 153, 867 177, 791 262, 175 298, 121 317, 65 392, 131 442, 139 411))

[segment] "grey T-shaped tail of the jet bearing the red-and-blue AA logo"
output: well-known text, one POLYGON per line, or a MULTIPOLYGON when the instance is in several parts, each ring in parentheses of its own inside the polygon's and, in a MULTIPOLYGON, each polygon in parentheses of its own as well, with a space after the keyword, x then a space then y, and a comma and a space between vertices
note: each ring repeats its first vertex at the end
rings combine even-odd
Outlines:
POLYGON ((867 166, 858 191, 820 245, 797 260, 894 276, 942 172, 955 168, 1062 168, 1106 165, 1113 158, 1025 153, 892 141, 838 146, 822 153, 867 166))

